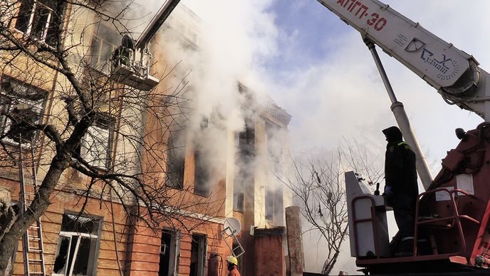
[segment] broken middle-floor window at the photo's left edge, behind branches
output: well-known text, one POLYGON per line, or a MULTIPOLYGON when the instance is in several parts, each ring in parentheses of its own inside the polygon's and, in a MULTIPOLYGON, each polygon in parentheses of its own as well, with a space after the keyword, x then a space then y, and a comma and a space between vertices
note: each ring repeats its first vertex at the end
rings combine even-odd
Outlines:
POLYGON ((3 80, 0 83, 1 136, 10 142, 31 143, 36 133, 32 126, 41 123, 48 93, 26 83, 3 80))

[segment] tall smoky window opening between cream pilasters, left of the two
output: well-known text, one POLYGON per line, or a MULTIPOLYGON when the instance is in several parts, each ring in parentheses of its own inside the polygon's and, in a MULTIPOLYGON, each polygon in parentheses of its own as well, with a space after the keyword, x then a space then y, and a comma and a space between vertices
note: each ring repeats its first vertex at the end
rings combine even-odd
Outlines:
POLYGON ((244 212, 244 191, 254 184, 255 128, 254 122, 246 121, 245 130, 236 134, 237 153, 233 189, 233 210, 244 212))

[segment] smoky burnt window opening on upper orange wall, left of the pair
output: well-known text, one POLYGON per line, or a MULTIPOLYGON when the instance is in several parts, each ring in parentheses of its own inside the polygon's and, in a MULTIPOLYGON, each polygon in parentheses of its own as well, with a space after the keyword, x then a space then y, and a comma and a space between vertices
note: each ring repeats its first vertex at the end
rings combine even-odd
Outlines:
POLYGON ((185 145, 181 145, 182 131, 175 131, 167 139, 167 178, 165 185, 184 188, 185 145))

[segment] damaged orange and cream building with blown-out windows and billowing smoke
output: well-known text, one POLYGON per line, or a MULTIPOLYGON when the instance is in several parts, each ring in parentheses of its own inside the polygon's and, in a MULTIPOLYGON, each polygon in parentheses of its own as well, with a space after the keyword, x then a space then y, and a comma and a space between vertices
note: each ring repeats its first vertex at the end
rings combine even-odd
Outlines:
POLYGON ((121 48, 120 25, 100 16, 108 6, 7 2, 1 19, 27 45, 0 53, 0 195, 9 210, 28 213, 58 156, 58 142, 29 126, 69 140, 83 111, 97 111, 41 219, 19 240, 14 275, 226 275, 231 250, 242 275, 286 273, 291 198, 276 175, 288 163, 291 116, 238 80, 241 128, 219 111, 194 112, 199 83, 165 44, 199 51, 196 14, 177 5, 137 53, 131 41, 121 48), (63 35, 53 29, 60 18, 63 35), (73 73, 49 59, 58 46, 69 49, 73 73), (114 53, 140 54, 141 63, 114 53), (227 218, 241 224, 234 236, 224 232, 227 218), (266 256, 276 267, 261 262, 266 256))

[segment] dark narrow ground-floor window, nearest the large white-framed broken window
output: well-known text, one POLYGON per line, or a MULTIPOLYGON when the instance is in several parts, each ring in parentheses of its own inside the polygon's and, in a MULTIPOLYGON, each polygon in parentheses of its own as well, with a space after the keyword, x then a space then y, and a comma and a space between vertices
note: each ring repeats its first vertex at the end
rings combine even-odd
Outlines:
POLYGON ((158 276, 177 275, 177 263, 179 259, 178 237, 178 232, 166 229, 162 230, 158 276))

